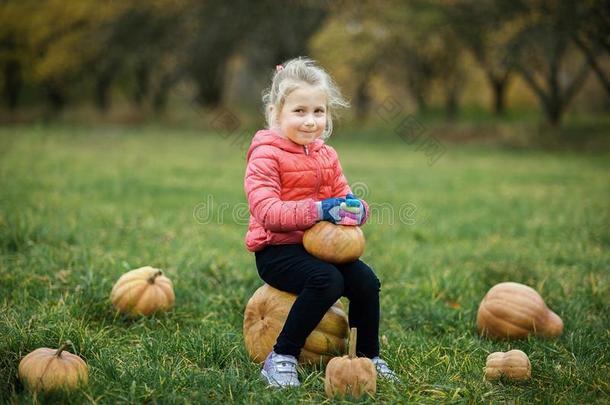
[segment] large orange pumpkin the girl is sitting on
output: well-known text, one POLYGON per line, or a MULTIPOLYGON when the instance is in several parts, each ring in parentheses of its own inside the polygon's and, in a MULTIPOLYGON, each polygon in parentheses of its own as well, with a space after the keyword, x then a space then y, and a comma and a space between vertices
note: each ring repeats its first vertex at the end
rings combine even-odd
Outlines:
MULTIPOLYGON (((264 361, 273 350, 295 300, 296 295, 268 284, 252 295, 244 312, 243 333, 246 350, 254 361, 264 361)), ((332 356, 345 353, 347 333, 347 315, 337 301, 307 337, 299 361, 326 364, 332 356)))

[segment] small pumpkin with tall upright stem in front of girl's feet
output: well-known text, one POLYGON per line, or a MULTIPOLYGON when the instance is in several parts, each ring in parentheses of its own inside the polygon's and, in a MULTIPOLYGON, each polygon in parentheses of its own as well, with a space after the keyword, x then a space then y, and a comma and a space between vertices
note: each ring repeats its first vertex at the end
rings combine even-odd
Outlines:
POLYGON ((349 395, 360 398, 363 394, 374 395, 377 391, 377 370, 366 357, 356 357, 356 328, 350 331, 349 354, 335 357, 326 366, 324 391, 329 398, 349 395))

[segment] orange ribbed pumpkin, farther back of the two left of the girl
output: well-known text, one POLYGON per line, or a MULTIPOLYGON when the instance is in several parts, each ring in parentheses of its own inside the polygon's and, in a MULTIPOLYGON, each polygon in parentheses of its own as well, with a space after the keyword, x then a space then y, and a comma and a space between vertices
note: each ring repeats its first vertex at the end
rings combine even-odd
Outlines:
POLYGON ((174 305, 174 288, 169 278, 150 266, 128 271, 112 288, 112 304, 128 315, 150 315, 174 305))

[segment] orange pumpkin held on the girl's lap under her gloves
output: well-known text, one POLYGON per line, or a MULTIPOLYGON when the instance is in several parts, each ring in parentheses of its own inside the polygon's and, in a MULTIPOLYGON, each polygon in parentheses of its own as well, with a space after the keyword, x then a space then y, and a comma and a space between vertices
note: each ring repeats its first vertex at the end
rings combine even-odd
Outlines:
POLYGON ((364 253, 364 234, 358 226, 320 221, 303 234, 303 246, 310 254, 329 263, 349 263, 364 253))

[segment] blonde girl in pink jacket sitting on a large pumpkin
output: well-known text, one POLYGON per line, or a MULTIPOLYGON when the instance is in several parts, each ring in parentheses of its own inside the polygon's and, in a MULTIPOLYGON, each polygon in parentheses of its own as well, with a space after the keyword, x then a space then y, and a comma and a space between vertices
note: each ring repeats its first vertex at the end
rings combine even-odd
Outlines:
POLYGON ((297 358, 305 339, 345 296, 349 326, 358 328, 358 355, 372 359, 380 377, 396 379, 379 358, 380 283, 373 270, 360 260, 326 263, 302 244, 303 231, 318 221, 366 221, 366 202, 351 194, 337 153, 324 143, 333 112, 349 104, 328 73, 306 58, 276 67, 263 102, 269 129, 256 133, 247 154, 246 246, 267 284, 298 297, 261 374, 270 386, 298 386, 297 358))

